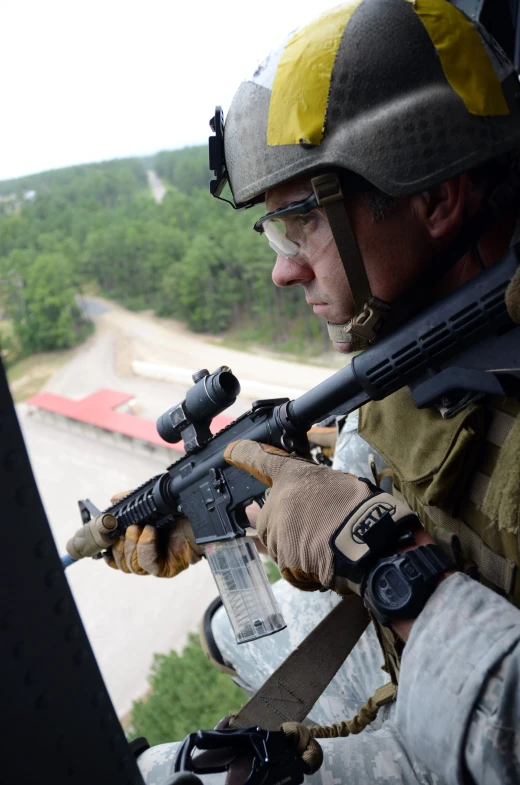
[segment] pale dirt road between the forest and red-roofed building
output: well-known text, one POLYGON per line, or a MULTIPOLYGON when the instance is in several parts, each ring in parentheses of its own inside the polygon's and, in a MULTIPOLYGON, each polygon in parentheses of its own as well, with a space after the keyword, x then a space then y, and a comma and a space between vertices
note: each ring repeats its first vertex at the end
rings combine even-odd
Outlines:
MULTIPOLYGON (((340 355, 332 355, 331 365, 325 367, 248 354, 221 346, 211 336, 190 333, 170 319, 158 319, 148 312, 134 313, 100 298, 84 298, 84 301, 96 323, 96 333, 70 363, 60 368, 45 389, 71 398, 81 398, 100 387, 129 392, 137 398, 141 416, 149 419, 156 419, 181 400, 187 388, 133 376, 133 360, 192 372, 229 365, 239 379, 276 384, 280 394, 284 394, 285 387, 288 391, 308 390, 345 364, 340 355)), ((249 408, 251 400, 240 396, 228 410, 230 416, 238 416, 249 408)))

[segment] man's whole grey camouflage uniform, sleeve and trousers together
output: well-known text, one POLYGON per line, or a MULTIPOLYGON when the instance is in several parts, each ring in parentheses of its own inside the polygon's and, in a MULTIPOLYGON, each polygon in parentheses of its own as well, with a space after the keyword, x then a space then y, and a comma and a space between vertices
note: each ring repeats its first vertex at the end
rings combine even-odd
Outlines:
MULTIPOLYGON (((342 426, 334 468, 371 476, 371 448, 357 433, 357 414, 342 426)), ((374 458, 381 471, 384 463, 374 458)), ((331 592, 299 592, 285 581, 274 591, 287 622, 287 630, 277 635, 237 646, 223 609, 213 617, 224 659, 251 692, 339 601, 331 592)), ((381 665, 370 625, 311 709, 310 720, 328 725, 357 713, 388 681, 381 665)), ((360 735, 320 740, 324 762, 305 785, 443 785, 463 782, 463 771, 483 785, 520 782, 516 608, 457 573, 441 584, 414 624, 402 665, 397 701, 384 706, 360 735)), ((163 744, 141 755, 147 785, 169 782, 177 747, 163 744)), ((220 785, 224 775, 204 780, 220 785)))

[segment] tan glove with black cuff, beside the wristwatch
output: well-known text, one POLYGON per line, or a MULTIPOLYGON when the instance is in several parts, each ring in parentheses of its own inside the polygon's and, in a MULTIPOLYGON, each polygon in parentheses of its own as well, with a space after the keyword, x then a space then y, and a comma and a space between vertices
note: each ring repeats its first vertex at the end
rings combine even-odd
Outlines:
POLYGON ((392 533, 401 521, 418 522, 406 504, 370 483, 276 447, 232 442, 224 457, 271 488, 258 516, 258 536, 282 576, 304 591, 324 586, 340 594, 360 593, 357 578, 346 580, 341 568, 363 574, 363 560, 370 555, 362 539, 366 532, 383 516, 392 533))

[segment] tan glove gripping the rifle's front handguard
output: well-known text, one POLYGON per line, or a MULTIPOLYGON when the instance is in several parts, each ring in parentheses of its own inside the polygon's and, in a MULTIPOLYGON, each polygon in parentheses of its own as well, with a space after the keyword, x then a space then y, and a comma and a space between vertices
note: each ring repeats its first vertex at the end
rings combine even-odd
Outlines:
MULTIPOLYGON (((117 494, 112 504, 129 491, 117 494)), ((129 526, 124 536, 112 543, 112 556, 105 557, 110 567, 136 575, 174 578, 190 564, 196 564, 204 548, 195 543, 189 520, 176 518, 169 531, 155 526, 129 526)))

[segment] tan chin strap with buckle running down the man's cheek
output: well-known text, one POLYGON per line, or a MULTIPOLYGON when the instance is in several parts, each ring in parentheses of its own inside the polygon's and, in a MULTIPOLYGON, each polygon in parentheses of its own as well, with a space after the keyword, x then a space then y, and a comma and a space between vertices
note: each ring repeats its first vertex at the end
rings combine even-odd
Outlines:
POLYGON ((313 177, 311 184, 320 207, 323 207, 338 248, 356 316, 345 324, 327 322, 331 341, 349 344, 349 351, 366 349, 374 341, 390 306, 370 291, 365 265, 354 237, 338 175, 313 177))

